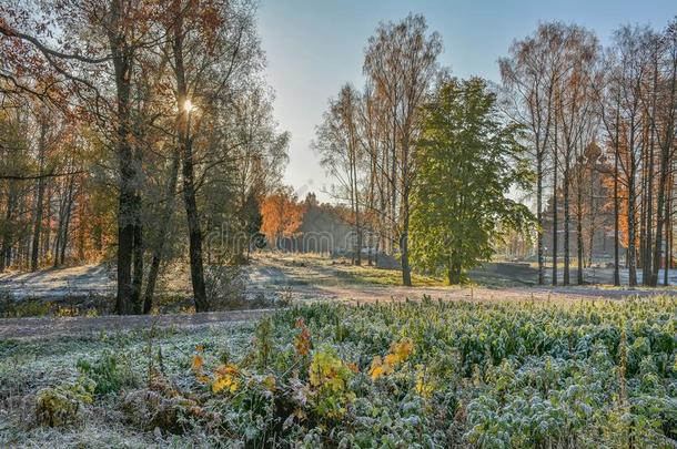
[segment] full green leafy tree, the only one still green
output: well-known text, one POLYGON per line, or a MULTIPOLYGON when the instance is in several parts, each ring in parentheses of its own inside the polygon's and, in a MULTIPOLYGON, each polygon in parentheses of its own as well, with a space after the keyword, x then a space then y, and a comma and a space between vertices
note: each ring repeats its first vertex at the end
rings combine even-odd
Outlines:
POLYGON ((507 197, 526 187, 521 127, 505 124, 496 95, 484 80, 449 80, 425 106, 418 142, 412 214, 412 257, 426 271, 446 271, 449 284, 494 253, 498 228, 533 221, 523 204, 507 197))

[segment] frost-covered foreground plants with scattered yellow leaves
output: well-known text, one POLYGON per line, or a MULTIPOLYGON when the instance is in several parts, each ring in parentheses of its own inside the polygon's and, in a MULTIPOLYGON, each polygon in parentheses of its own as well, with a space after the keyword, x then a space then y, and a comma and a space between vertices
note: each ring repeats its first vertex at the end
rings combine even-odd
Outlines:
POLYGON ((314 304, 0 345, 0 446, 677 445, 677 299, 314 304))

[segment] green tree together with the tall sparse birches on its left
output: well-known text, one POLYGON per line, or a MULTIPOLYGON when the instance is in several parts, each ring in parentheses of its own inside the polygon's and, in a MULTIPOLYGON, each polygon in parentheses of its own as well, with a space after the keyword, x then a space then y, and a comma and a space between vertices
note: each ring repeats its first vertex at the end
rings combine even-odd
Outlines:
POLYGON ((496 95, 479 79, 451 78, 441 52, 422 16, 382 23, 365 49, 364 88, 341 88, 314 141, 334 197, 351 210, 355 263, 364 245, 396 255, 404 285, 413 266, 461 282, 493 254, 499 225, 529 221, 506 197, 529 177, 519 126, 492 129, 504 125, 496 95))

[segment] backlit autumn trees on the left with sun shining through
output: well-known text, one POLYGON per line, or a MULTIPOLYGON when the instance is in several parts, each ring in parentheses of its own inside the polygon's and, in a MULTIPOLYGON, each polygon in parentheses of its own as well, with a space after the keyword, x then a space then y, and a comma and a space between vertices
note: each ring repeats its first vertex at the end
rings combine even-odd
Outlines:
POLYGON ((0 266, 111 259, 119 313, 151 308, 161 266, 246 249, 280 184, 287 134, 250 1, 3 3, 0 266), (23 31, 36 32, 24 34, 23 31), (185 255, 185 257, 183 256, 185 255))

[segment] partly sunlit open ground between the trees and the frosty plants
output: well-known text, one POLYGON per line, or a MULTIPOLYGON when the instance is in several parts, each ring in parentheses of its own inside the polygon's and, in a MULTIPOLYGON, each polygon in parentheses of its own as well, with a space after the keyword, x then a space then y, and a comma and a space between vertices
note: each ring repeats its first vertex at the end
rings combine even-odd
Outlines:
MULTIPOLYGON (((415 287, 403 287, 400 272, 353 266, 342 259, 311 255, 280 253, 257 254, 245 267, 247 295, 272 298, 270 304, 284 298, 284 303, 346 302, 373 303, 390 300, 418 300, 424 296, 443 300, 494 299, 594 299, 651 296, 657 293, 675 294, 671 288, 610 288, 604 286, 533 287, 535 269, 526 264, 494 263, 471 275, 476 284, 462 287, 444 286, 441 279, 414 276, 415 287)), ((113 276, 104 264, 46 269, 30 274, 0 275, 0 294, 6 302, 21 304, 28 299, 62 304, 58 315, 72 314, 68 307, 73 297, 92 296, 112 302, 113 276)), ((165 290, 189 299, 189 279, 183 273, 172 273, 172 283, 165 290)), ((102 331, 121 331, 150 328, 192 328, 215 323, 255 320, 266 313, 269 303, 252 303, 253 310, 228 310, 210 314, 173 313, 156 316, 48 316, 40 318, 12 317, 0 320, 0 339, 36 339, 78 336, 102 331)), ((242 307, 247 308, 247 307, 242 307)), ((42 312, 39 308, 38 312, 42 312)), ((30 312, 30 310, 29 310, 30 312)), ((93 314, 93 313, 92 313, 93 314)), ((7 314, 9 315, 9 314, 7 314)), ((30 314, 29 314, 30 315, 30 314)), ((34 313, 32 315, 40 315, 34 313)), ((16 316, 16 315, 10 315, 16 316)))

